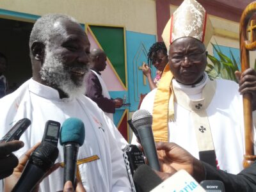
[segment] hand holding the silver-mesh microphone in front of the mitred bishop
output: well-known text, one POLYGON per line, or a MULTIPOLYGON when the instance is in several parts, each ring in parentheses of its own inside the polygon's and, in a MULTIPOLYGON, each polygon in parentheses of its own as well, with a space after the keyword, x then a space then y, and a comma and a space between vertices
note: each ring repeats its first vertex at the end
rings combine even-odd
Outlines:
POLYGON ((198 182, 204 180, 204 166, 184 148, 175 143, 156 143, 161 172, 157 173, 161 179, 167 179, 179 170, 186 170, 198 182))

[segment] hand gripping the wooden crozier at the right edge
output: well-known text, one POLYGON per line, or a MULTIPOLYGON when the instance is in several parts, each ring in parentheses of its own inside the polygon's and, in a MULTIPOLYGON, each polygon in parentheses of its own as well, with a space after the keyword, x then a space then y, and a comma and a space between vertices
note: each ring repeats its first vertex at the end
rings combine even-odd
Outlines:
POLYGON ((235 72, 239 82, 239 93, 252 94, 252 110, 256 110, 256 71, 253 68, 247 68, 244 72, 235 72))

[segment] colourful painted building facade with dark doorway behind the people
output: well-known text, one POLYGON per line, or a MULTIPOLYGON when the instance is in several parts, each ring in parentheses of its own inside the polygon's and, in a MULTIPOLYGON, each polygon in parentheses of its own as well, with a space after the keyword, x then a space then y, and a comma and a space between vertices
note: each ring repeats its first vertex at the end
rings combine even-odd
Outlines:
MULTIPOLYGON (((239 19, 248 0, 198 0, 210 15, 214 28, 211 43, 239 61, 239 19)), ((130 141, 127 120, 138 109, 140 94, 148 93, 141 65, 149 47, 161 41, 161 33, 181 0, 1 0, 0 52, 8 57, 6 77, 13 90, 31 77, 28 39, 38 17, 65 13, 76 18, 86 31, 92 48, 103 49, 107 67, 102 72, 111 97, 121 97, 126 106, 117 109, 114 122, 130 141), (14 67, 15 66, 15 67, 14 67), (130 104, 130 105, 129 105, 130 104)), ((214 49, 209 44, 209 54, 214 49)), ((254 65, 255 56, 251 56, 254 65)), ((152 68, 154 76, 156 70, 152 68)))

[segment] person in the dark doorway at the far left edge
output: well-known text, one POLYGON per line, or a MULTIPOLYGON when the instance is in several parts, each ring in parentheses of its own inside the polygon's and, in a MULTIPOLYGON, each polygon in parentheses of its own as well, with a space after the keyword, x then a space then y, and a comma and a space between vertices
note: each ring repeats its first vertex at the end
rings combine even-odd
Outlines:
POLYGON ((0 98, 4 97, 7 92, 8 84, 6 77, 4 76, 4 72, 7 67, 7 58, 6 56, 0 52, 0 98))

